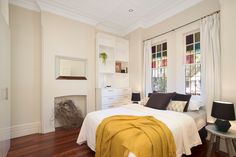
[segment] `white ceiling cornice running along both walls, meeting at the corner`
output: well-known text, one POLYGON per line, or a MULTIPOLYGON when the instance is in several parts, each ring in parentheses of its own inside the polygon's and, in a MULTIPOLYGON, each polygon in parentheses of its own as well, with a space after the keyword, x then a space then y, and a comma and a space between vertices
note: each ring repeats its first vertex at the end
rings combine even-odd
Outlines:
POLYGON ((57 4, 52 5, 50 1, 41 1, 41 0, 10 0, 11 4, 24 7, 33 11, 47 11, 51 12, 66 18, 70 18, 79 22, 83 22, 92 26, 95 26, 98 30, 107 31, 119 36, 125 36, 128 33, 134 31, 138 28, 148 28, 151 27, 157 23, 160 23, 167 18, 176 15, 177 13, 180 13, 181 11, 199 3, 202 0, 187 0, 183 1, 183 3, 180 3, 178 5, 174 5, 170 8, 168 8, 167 11, 163 12, 163 14, 154 16, 150 19, 141 19, 137 21, 136 23, 132 24, 131 26, 127 27, 126 29, 117 30, 114 28, 110 28, 108 26, 105 26, 103 24, 100 24, 99 21, 92 19, 91 17, 81 16, 78 11, 75 11, 71 8, 65 7, 63 5, 57 4))

